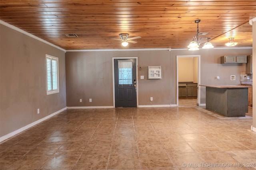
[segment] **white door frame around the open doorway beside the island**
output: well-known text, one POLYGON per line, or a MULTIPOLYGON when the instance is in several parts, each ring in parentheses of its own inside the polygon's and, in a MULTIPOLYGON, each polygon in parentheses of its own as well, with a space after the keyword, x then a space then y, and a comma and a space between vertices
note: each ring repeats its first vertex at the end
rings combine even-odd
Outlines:
POLYGON ((201 86, 199 86, 199 84, 201 83, 201 60, 200 60, 200 57, 201 55, 177 55, 176 56, 176 68, 177 68, 177 85, 176 85, 176 88, 177 88, 177 106, 179 106, 179 57, 198 57, 198 72, 197 72, 197 76, 198 76, 198 90, 197 90, 197 103, 198 105, 200 106, 200 96, 201 96, 201 86))

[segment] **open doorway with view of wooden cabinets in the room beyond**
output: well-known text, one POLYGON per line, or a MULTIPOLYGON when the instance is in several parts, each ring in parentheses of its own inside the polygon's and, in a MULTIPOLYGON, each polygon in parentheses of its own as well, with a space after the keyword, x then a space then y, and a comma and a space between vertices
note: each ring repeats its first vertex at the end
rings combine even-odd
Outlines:
POLYGON ((200 104, 200 55, 177 55, 177 106, 200 104))

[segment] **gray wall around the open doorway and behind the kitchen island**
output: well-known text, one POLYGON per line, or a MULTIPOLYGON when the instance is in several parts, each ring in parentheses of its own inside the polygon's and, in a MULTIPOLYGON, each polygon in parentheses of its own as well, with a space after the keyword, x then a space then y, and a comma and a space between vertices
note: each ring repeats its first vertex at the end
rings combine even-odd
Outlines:
MULTIPOLYGON (((205 85, 240 85, 240 72, 245 71, 246 64, 220 64, 220 57, 224 55, 251 55, 252 49, 200 49, 198 51, 173 50, 171 51, 172 80, 176 83, 176 56, 200 55, 200 84, 205 85), (236 75, 236 80, 230 80, 231 75, 236 75), (220 76, 220 80, 216 80, 220 76)), ((176 84, 171 84, 171 91, 176 92, 176 84)), ((201 88, 200 103, 205 104, 206 88, 201 88)), ((176 98, 171 101, 176 102, 176 98)))

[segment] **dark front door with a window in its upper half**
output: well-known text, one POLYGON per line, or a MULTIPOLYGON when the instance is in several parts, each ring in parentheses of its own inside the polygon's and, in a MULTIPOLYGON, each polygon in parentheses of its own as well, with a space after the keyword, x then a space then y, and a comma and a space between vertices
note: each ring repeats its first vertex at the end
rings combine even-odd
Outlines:
POLYGON ((115 105, 137 107, 136 59, 114 59, 115 105))

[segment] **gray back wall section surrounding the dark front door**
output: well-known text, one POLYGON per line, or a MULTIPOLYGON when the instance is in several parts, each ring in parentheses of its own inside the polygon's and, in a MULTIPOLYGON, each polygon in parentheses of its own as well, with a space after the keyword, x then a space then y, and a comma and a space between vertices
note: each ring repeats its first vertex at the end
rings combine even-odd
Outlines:
POLYGON ((67 106, 113 106, 112 57, 138 57, 139 105, 150 105, 150 97, 154 105, 170 105, 170 52, 166 50, 67 52, 67 106), (162 66, 162 79, 148 80, 148 66, 162 66))

